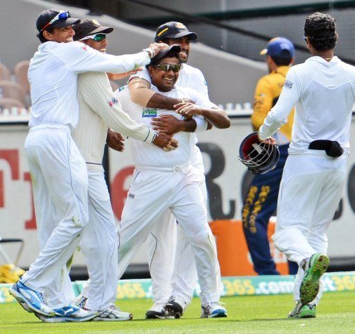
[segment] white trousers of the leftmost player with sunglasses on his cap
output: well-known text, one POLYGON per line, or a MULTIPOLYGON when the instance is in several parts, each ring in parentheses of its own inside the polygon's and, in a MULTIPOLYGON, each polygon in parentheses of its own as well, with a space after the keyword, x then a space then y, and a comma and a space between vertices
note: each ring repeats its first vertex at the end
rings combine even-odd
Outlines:
POLYGON ((59 124, 31 128, 25 152, 41 251, 22 281, 44 292, 59 275, 69 280, 62 270, 78 247, 88 221, 87 167, 69 128, 59 124))

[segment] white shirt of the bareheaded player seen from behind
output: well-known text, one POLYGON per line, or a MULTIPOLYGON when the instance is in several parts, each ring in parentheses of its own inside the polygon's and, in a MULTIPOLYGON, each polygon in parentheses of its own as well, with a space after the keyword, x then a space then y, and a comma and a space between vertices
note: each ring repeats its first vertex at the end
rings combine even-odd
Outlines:
POLYGON ((266 139, 287 122, 295 106, 288 153, 308 150, 313 140, 336 140, 349 151, 349 131, 355 102, 355 67, 334 57, 313 56, 288 70, 279 100, 259 129, 266 139))

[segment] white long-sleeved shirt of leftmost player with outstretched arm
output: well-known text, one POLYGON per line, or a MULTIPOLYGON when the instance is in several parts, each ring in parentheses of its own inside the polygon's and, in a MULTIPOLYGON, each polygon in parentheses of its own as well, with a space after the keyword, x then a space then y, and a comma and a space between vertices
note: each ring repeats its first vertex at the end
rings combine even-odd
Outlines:
POLYGON ((28 69, 32 101, 29 126, 51 123, 75 128, 78 123, 76 90, 79 73, 121 73, 149 62, 147 52, 112 56, 81 42, 40 44, 28 69))

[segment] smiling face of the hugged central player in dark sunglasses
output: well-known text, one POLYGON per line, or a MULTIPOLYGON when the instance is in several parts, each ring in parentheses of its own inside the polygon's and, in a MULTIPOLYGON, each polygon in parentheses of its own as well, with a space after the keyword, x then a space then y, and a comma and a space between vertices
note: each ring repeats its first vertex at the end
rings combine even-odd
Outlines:
MULTIPOLYGON (((159 65, 163 64, 180 65, 180 60, 176 57, 165 57, 159 60, 159 65)), ((155 85, 161 92, 170 92, 179 77, 179 72, 173 72, 173 69, 171 68, 166 72, 164 69, 157 66, 149 66, 148 71, 153 85, 155 85)))

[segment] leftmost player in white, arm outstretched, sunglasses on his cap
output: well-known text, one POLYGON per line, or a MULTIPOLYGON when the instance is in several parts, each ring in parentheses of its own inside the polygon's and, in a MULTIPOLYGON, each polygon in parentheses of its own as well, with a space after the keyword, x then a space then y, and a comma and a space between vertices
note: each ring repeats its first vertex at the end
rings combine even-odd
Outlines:
POLYGON ((46 305, 44 290, 78 247, 87 224, 87 167, 71 131, 78 123, 78 74, 128 72, 144 65, 159 47, 135 55, 111 56, 80 42, 72 42, 69 12, 44 10, 37 19, 42 44, 31 60, 28 80, 33 103, 25 151, 33 182, 33 197, 40 235, 40 255, 9 292, 30 312, 73 321, 96 317, 67 300, 54 308, 46 305), (51 226, 44 228, 43 226, 51 226), (49 231, 53 231, 49 233, 49 231))

